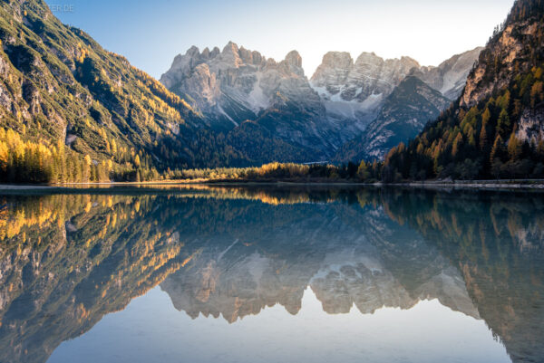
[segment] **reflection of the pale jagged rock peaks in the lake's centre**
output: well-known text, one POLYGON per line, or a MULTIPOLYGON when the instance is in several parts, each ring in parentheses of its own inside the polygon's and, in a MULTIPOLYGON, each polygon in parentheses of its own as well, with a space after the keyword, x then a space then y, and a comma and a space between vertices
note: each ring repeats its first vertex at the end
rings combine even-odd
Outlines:
POLYGON ((354 305, 362 313, 384 306, 410 309, 436 298, 478 318, 459 272, 419 236, 391 224, 383 209, 356 214, 340 205, 282 209, 281 217, 270 216, 273 231, 242 227, 241 234, 201 241, 206 247, 191 259, 190 268, 160 284, 174 307, 193 319, 202 314, 228 322, 277 303, 296 314, 309 287, 327 313, 346 313, 354 305), (295 215, 301 209, 304 220, 295 215), (393 246, 396 251, 390 251, 393 246), (415 263, 424 265, 422 272, 403 276, 415 263), (390 265, 397 270, 390 271, 390 265), (411 284, 403 284, 407 281, 411 284))

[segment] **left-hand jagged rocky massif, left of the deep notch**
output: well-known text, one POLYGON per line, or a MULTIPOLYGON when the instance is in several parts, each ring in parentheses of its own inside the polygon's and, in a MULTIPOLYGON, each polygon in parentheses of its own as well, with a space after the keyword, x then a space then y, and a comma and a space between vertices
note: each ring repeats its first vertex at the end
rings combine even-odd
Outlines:
POLYGON ((325 107, 310 87, 296 51, 276 62, 232 42, 221 52, 216 47, 200 53, 191 47, 174 59, 160 81, 192 100, 211 129, 226 132, 230 142, 254 160, 321 158, 349 138, 340 125, 326 121, 325 107), (244 125, 248 120, 253 124, 244 125), (247 132, 257 132, 259 143, 282 144, 285 151, 257 155, 248 145, 247 132), (293 148, 296 151, 288 151, 293 148))

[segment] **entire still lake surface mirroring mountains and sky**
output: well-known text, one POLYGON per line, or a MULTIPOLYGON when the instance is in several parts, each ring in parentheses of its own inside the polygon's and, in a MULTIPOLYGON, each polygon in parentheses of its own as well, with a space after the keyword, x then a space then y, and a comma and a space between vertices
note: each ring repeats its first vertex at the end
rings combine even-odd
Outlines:
POLYGON ((0 361, 544 360, 544 194, 0 195, 0 361))

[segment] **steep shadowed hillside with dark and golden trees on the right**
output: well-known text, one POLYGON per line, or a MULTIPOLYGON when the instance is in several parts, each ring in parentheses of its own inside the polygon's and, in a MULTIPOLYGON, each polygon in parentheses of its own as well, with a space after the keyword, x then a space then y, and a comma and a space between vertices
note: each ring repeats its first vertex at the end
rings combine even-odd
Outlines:
POLYGON ((544 1, 517 1, 458 102, 385 158, 384 181, 544 177, 544 1))

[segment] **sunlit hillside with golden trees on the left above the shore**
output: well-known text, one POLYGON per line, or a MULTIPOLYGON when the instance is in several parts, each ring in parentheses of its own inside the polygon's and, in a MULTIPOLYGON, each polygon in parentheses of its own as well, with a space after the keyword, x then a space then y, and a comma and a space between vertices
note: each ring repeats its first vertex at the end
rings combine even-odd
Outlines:
POLYGON ((2 1, 0 41, 0 181, 140 180, 244 162, 189 103, 41 0, 2 1))

